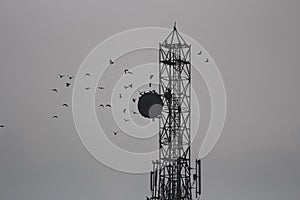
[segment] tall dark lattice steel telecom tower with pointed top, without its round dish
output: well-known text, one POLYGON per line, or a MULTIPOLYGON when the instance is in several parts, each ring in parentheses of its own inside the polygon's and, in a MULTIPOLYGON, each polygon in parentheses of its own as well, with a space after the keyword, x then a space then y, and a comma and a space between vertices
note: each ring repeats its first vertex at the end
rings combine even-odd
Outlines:
POLYGON ((191 200, 201 194, 201 163, 191 167, 191 45, 174 25, 159 44, 159 159, 150 174, 152 200, 191 200), (192 191, 195 190, 195 196, 192 191))

